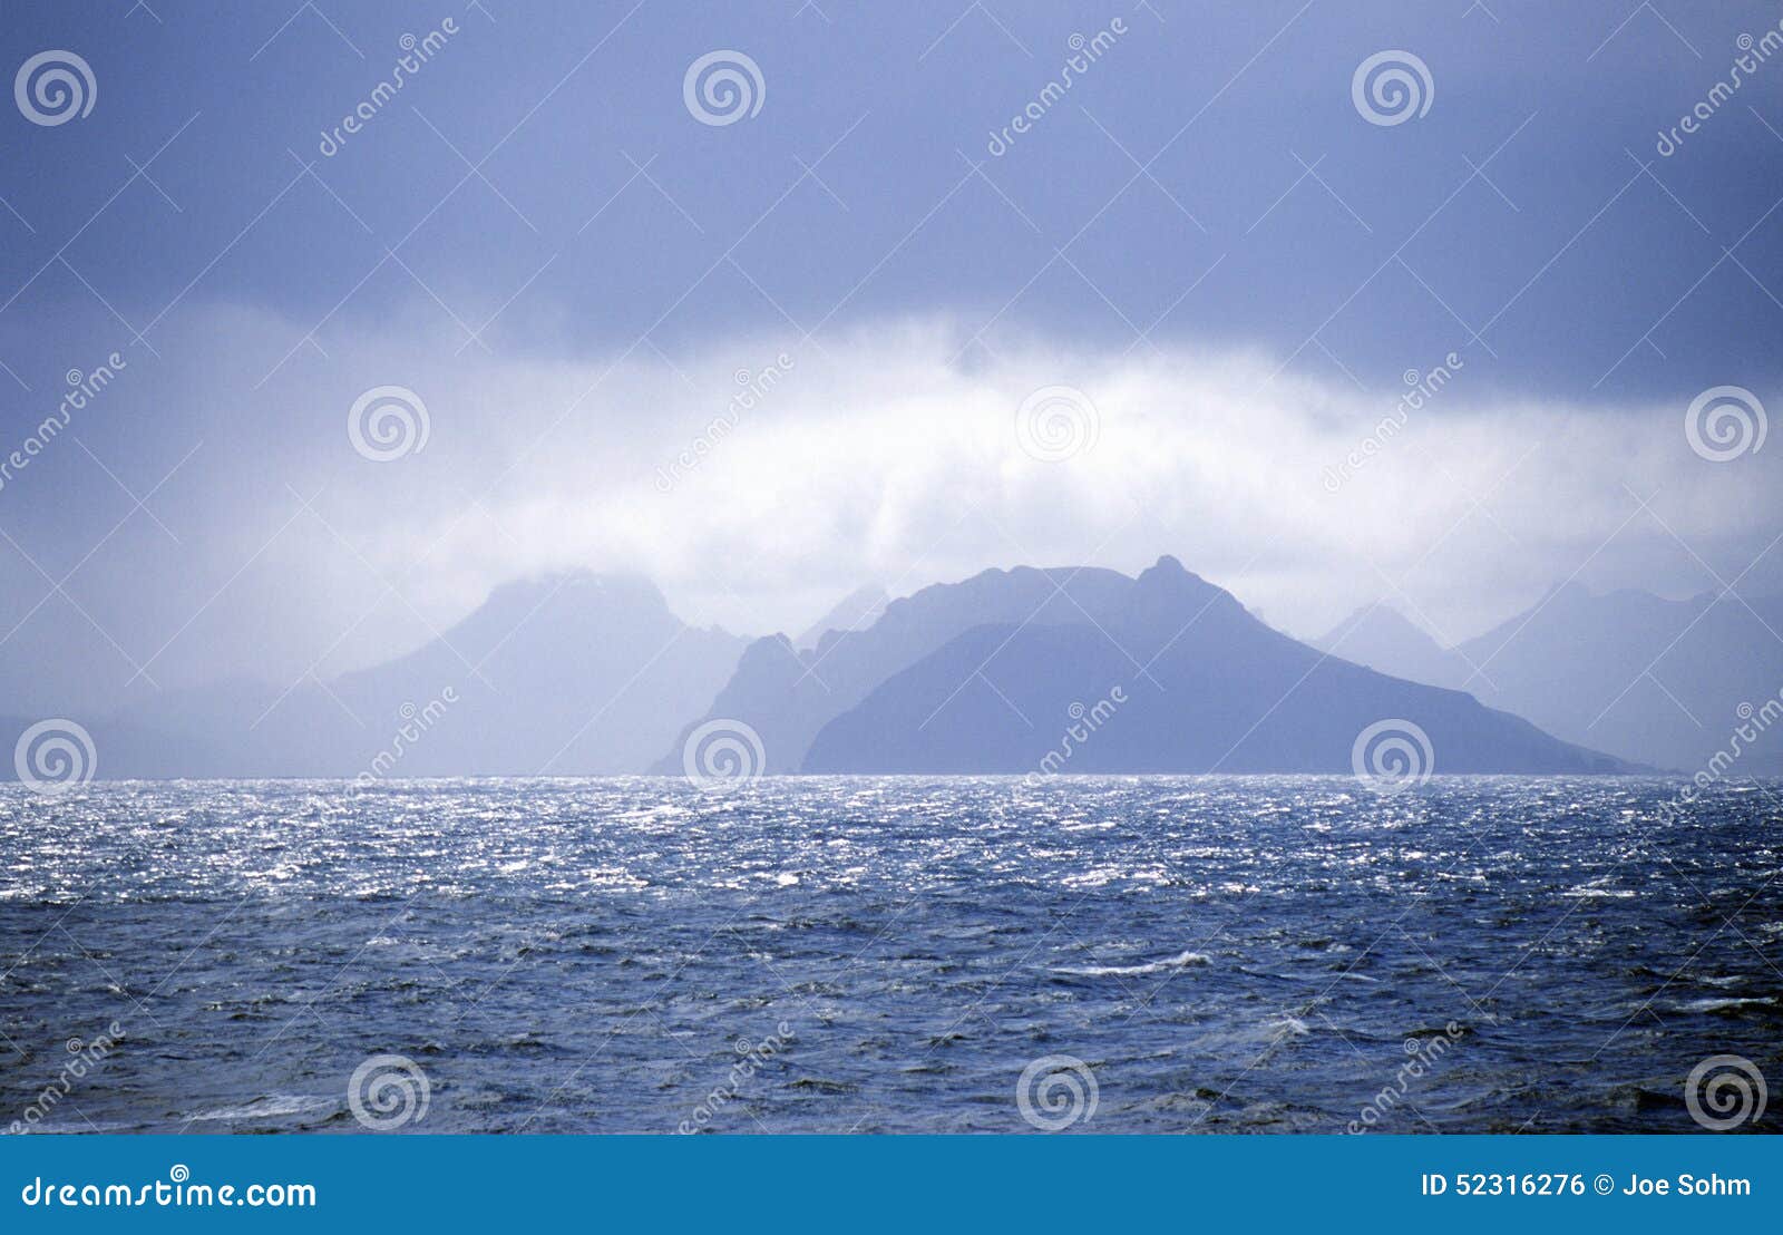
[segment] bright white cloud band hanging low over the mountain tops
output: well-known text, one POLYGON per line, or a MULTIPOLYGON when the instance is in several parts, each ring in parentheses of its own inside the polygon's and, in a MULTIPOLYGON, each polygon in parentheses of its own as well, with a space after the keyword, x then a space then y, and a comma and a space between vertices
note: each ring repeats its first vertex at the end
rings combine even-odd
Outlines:
MULTIPOLYGON (((166 352, 205 366, 114 391, 159 410, 168 450, 205 439, 157 498, 185 528, 144 543, 164 566, 87 580, 159 593, 127 646, 171 637, 175 678, 289 676, 392 655, 565 568, 638 571, 690 621, 765 634, 863 582, 1159 553, 1298 634, 1387 596, 1458 639, 1574 573, 1669 594, 1731 578, 1765 548, 1778 478, 1776 452, 1692 453, 1681 407, 1505 396, 1471 352, 1362 391, 1232 348, 1031 334, 991 353, 945 316, 579 357, 460 352, 421 321, 339 323, 267 377, 303 327, 201 311, 182 328, 207 346, 166 352), (348 410, 374 385, 424 402, 424 450, 355 452, 348 410), (1036 402, 1048 387, 1068 389, 1036 402)), ((1756 578, 1774 585, 1769 560, 1756 578)))

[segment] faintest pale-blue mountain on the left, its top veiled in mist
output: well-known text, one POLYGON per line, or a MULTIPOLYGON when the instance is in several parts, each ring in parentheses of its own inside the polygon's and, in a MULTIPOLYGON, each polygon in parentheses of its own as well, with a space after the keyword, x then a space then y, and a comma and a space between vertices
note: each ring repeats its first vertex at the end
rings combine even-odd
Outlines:
POLYGON ((396 660, 164 692, 93 732, 105 776, 637 773, 745 642, 686 626, 645 580, 569 573, 497 587, 396 660), (134 737, 102 741, 109 726, 134 737))

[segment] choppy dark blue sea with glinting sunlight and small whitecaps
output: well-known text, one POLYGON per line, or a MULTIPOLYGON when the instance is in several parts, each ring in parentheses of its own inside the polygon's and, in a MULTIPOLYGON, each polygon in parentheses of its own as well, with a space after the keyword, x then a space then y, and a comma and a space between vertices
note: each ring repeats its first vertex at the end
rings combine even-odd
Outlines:
POLYGON ((408 1131, 1694 1131, 1783 1080, 1783 787, 1674 789, 9 787, 0 1126, 358 1131, 394 1055, 408 1131))

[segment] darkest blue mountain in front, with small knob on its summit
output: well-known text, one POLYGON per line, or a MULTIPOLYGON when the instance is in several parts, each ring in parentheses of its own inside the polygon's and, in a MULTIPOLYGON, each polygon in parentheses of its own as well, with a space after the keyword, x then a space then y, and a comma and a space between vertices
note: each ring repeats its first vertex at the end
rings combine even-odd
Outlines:
POLYGON ((1626 769, 1458 691, 1289 639, 1164 557, 1102 621, 950 639, 829 721, 804 771, 1334 773, 1380 723, 1428 739, 1425 769, 1626 769))

